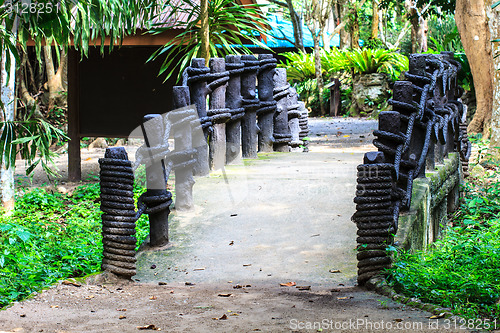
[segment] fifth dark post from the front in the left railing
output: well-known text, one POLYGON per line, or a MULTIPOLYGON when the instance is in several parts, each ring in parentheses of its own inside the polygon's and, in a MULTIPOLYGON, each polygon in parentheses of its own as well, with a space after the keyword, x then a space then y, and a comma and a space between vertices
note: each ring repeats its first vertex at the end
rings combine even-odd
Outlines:
POLYGON ((209 84, 210 109, 208 115, 214 124, 210 135, 210 169, 221 169, 226 162, 226 122, 231 118, 226 109, 226 84, 229 73, 226 72, 224 58, 210 59, 210 72, 215 80, 209 84))

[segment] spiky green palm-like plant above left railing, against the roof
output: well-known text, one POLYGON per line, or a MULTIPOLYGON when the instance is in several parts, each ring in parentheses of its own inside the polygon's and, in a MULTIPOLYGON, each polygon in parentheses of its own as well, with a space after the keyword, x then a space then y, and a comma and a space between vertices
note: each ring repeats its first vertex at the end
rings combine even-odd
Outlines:
MULTIPOLYGON (((190 60, 203 56, 203 34, 207 32, 199 27, 203 13, 198 1, 178 0, 168 2, 167 5, 170 17, 174 18, 172 24, 168 26, 163 23, 156 24, 150 32, 159 34, 171 29, 183 29, 183 32, 158 49, 150 60, 165 56, 160 74, 166 73, 165 80, 167 80, 178 70, 179 80, 190 60)), ((227 53, 249 54, 251 51, 245 45, 248 43, 268 49, 259 40, 268 27, 262 15, 263 5, 241 6, 234 0, 210 0, 207 5, 209 57, 227 53)))

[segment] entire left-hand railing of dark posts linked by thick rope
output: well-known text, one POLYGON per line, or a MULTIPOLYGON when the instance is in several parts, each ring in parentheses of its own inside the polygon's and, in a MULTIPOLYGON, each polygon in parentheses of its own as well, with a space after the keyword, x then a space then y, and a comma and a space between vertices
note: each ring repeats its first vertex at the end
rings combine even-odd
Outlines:
POLYGON ((193 59, 183 78, 173 89, 175 110, 147 115, 133 133, 145 141, 135 163, 123 147, 108 148, 99 160, 104 270, 135 275, 135 222, 143 213, 149 214, 150 246, 168 243, 171 171, 175 207, 189 210, 193 175, 208 175, 241 157, 257 158, 258 151, 307 151, 307 110, 272 55, 212 58, 209 67, 204 59, 193 59), (146 165, 147 191, 136 211, 133 172, 140 164, 146 165))

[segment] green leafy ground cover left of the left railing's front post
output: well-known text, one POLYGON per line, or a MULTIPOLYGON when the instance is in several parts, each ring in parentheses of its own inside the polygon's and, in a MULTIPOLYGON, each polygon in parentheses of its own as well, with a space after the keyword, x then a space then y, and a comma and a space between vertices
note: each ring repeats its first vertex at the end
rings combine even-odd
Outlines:
MULTIPOLYGON (((135 198, 144 191, 136 184, 135 198)), ((98 183, 71 194, 36 188, 21 193, 11 216, 0 216, 0 308, 58 280, 99 272, 102 258, 98 183)), ((137 222, 138 245, 149 232, 137 222)))

